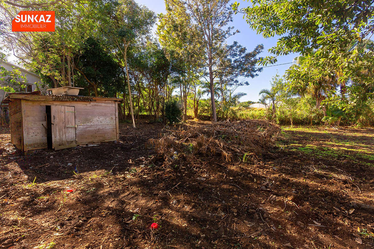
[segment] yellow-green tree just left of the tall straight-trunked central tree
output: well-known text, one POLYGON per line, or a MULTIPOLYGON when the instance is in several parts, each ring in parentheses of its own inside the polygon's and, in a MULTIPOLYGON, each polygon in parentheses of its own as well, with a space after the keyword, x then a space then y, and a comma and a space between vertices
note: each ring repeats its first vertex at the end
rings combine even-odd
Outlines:
POLYGON ((183 122, 187 120, 187 97, 196 85, 203 63, 203 43, 196 24, 186 26, 186 9, 174 0, 166 1, 166 14, 160 14, 157 35, 174 69, 174 81, 179 84, 183 107, 183 122))

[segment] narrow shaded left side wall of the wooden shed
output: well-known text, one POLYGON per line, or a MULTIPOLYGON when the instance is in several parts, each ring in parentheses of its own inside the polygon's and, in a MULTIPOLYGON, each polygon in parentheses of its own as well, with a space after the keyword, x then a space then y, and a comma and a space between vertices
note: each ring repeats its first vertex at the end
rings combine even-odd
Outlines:
POLYGON ((20 99, 13 99, 9 103, 9 125, 11 143, 22 150, 22 105, 20 99))

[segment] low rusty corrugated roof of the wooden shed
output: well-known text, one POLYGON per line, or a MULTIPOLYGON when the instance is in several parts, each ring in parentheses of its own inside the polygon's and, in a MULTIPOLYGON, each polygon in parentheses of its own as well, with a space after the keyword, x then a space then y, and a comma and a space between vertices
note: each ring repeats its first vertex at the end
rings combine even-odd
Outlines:
POLYGON ((74 96, 74 95, 42 95, 40 91, 34 91, 32 93, 9 93, 4 103, 10 101, 10 99, 26 99, 26 100, 39 100, 39 101, 78 101, 78 102, 95 102, 96 100, 113 100, 116 102, 122 102, 123 99, 117 98, 104 98, 104 97, 86 97, 86 96, 74 96))

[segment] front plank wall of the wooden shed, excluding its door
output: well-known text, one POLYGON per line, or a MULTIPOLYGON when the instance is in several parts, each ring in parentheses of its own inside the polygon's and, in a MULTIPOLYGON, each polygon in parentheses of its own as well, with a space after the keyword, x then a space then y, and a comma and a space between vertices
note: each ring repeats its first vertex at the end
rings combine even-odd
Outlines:
POLYGON ((32 101, 22 100, 24 113, 24 150, 47 148, 46 105, 74 106, 76 144, 117 140, 117 102, 32 101))

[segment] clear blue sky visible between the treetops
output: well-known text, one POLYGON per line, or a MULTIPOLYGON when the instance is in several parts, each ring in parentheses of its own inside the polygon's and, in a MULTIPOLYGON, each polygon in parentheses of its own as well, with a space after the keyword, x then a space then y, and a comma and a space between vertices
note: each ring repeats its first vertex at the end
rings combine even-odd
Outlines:
MULTIPOLYGON (((141 5, 147 6, 149 9, 153 10, 154 12, 162 13, 165 11, 165 2, 164 0, 135 0, 141 5)), ((240 1, 239 1, 240 2, 240 1)), ((240 2, 241 7, 248 6, 249 3, 240 2)), ((256 34, 256 31, 251 29, 249 25, 246 23, 245 19, 243 19, 242 14, 234 15, 234 21, 231 24, 235 27, 235 29, 239 29, 240 33, 234 35, 233 37, 230 37, 229 43, 232 43, 232 41, 236 40, 241 44, 242 46, 245 46, 248 51, 252 51, 257 44, 263 44, 264 45, 264 52, 261 53, 260 56, 267 56, 270 55, 270 53, 267 52, 267 50, 270 47, 273 47, 276 45, 277 38, 268 38, 265 39, 261 34, 256 34)), ((287 55, 287 56, 279 56, 278 62, 275 64, 282 64, 282 63, 288 63, 292 62, 294 57, 297 55, 287 55)), ((242 97, 240 99, 241 102, 252 100, 252 101, 258 101, 260 97, 258 96, 258 92, 263 88, 270 88, 270 80, 272 77, 277 73, 277 70, 279 72, 279 75, 283 75, 286 69, 289 68, 292 64, 287 65, 279 65, 279 66, 272 66, 268 68, 264 68, 262 72, 258 74, 258 77, 256 78, 249 78, 247 81, 249 82, 248 86, 238 87, 236 91, 241 91, 246 93, 247 95, 242 97)))

